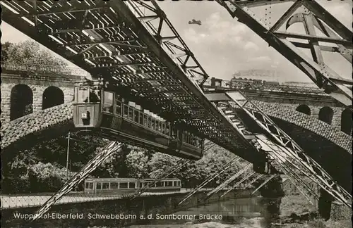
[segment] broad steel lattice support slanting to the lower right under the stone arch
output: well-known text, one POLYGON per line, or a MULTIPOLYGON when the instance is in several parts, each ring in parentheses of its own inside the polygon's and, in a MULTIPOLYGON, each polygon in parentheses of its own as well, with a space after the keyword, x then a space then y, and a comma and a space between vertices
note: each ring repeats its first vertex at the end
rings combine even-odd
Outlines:
POLYGON ((270 165, 276 170, 282 171, 299 183, 311 194, 316 194, 299 175, 305 175, 309 179, 318 183, 322 189, 328 191, 337 201, 351 207, 352 196, 333 180, 330 175, 313 160, 307 156, 295 141, 293 141, 280 127, 275 125, 265 113, 254 103, 241 94, 241 92, 225 92, 222 94, 208 94, 208 99, 217 103, 219 110, 229 118, 239 131, 244 133, 244 137, 262 151, 268 154, 270 165), (246 125, 237 114, 241 110, 258 127, 263 129, 263 134, 253 134, 246 130, 246 125), (249 137, 250 136, 250 137, 249 137), (252 136, 252 137, 251 137, 252 136))

